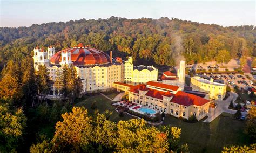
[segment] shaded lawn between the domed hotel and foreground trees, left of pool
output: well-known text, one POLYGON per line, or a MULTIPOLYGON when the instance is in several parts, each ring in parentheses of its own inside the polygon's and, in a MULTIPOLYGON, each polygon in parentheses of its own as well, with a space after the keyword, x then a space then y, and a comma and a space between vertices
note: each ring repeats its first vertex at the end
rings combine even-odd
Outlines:
POLYGON ((91 105, 93 102, 96 102, 96 107, 99 110, 99 113, 104 113, 104 111, 107 109, 113 112, 113 114, 110 116, 110 120, 114 122, 118 122, 119 120, 129 120, 133 118, 131 115, 127 115, 127 114, 124 114, 123 117, 120 117, 115 110, 116 107, 111 105, 112 101, 110 101, 109 99, 105 98, 102 95, 96 95, 96 96, 87 98, 86 100, 76 103, 75 106, 79 106, 79 107, 84 106, 88 110, 89 114, 93 114, 94 110, 91 109, 91 105))

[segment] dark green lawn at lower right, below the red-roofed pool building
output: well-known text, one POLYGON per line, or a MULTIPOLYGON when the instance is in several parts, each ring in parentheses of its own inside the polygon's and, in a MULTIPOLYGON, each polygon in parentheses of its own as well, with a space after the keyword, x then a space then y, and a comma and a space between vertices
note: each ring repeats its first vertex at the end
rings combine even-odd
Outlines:
POLYGON ((191 152, 220 152, 225 145, 249 143, 243 133, 245 122, 234 120, 228 113, 221 114, 211 123, 187 123, 167 116, 164 124, 181 128, 181 143, 187 143, 191 152))

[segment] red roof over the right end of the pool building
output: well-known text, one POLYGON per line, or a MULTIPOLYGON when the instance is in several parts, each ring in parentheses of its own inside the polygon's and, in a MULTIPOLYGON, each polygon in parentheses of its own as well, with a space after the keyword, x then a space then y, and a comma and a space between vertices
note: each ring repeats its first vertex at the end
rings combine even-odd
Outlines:
POLYGON ((188 94, 183 91, 178 91, 177 94, 171 100, 171 102, 177 103, 183 106, 190 106, 190 105, 202 106, 209 101, 210 100, 201 98, 200 96, 188 94))

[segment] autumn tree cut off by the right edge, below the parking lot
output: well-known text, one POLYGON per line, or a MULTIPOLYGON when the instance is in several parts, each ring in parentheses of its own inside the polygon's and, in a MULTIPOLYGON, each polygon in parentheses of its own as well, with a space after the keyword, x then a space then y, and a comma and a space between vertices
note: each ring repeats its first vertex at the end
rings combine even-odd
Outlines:
POLYGON ((245 133, 256 143, 256 107, 252 106, 247 114, 245 133))

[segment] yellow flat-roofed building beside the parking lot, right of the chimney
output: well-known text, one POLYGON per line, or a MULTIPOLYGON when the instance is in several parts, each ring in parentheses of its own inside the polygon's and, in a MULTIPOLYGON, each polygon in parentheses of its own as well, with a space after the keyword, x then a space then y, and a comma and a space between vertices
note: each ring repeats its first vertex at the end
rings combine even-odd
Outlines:
POLYGON ((213 79, 207 80, 200 77, 192 77, 190 86, 193 91, 209 93, 211 99, 223 100, 226 95, 226 84, 213 82, 213 79))

